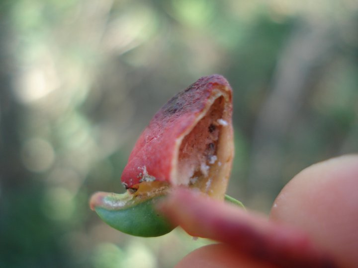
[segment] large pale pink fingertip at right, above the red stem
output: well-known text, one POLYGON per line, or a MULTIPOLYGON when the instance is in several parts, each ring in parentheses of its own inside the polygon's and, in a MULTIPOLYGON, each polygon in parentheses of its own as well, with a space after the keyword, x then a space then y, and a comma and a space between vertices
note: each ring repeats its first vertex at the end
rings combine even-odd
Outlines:
POLYGON ((358 264, 358 155, 306 168, 280 192, 270 219, 306 231, 342 267, 358 264))

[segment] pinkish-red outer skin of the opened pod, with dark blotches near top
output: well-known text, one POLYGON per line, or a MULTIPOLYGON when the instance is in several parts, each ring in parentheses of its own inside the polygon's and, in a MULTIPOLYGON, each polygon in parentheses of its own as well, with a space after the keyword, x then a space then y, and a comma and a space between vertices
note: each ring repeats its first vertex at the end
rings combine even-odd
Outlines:
POLYGON ((213 74, 201 77, 155 114, 137 140, 123 170, 121 180, 126 189, 136 188, 136 184, 141 182, 144 167, 148 175, 156 180, 170 182, 175 141, 192 126, 217 88, 227 88, 231 92, 223 76, 213 74))

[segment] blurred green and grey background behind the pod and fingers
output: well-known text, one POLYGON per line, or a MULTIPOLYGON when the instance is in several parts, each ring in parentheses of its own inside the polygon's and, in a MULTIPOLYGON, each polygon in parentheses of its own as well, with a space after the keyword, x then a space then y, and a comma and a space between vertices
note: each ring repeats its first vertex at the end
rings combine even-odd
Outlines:
POLYGON ((170 268, 208 243, 89 210, 174 94, 234 90, 229 194, 268 213, 297 172, 358 152, 357 0, 0 1, 0 267, 170 268))

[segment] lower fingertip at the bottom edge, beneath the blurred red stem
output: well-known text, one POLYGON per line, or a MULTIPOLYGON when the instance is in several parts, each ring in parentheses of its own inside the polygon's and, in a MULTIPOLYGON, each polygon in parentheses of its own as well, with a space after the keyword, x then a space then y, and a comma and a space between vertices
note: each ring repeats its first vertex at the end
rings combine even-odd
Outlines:
POLYGON ((176 268, 273 268, 235 251, 225 244, 212 244, 186 255, 176 268))

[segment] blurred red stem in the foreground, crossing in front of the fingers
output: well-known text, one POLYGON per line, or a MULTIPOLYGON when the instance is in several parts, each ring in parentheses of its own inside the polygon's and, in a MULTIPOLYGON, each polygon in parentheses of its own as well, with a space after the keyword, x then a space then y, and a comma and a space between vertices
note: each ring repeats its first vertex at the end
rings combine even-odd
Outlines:
POLYGON ((185 189, 158 207, 188 234, 223 242, 258 262, 287 268, 334 268, 331 256, 299 230, 185 189))

